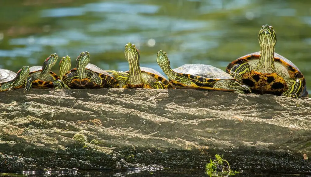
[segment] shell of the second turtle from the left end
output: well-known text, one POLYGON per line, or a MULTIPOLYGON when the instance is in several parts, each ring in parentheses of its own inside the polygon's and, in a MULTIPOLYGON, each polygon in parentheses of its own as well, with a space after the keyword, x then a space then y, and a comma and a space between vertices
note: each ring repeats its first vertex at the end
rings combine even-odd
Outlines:
MULTIPOLYGON (((29 76, 36 72, 42 71, 42 66, 32 66, 29 68, 29 76)), ((59 79, 58 75, 56 75, 54 72, 50 71, 50 76, 53 80, 59 79)), ((36 79, 32 81, 32 88, 54 88, 54 84, 52 80, 42 80, 42 79, 36 79)))

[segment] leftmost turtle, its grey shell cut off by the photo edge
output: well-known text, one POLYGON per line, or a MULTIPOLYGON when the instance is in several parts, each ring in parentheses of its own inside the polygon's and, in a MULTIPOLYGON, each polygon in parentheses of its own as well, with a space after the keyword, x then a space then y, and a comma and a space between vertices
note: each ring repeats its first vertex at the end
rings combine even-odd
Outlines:
POLYGON ((17 73, 0 69, 0 92, 15 90, 24 86, 29 75, 29 66, 23 66, 17 73))

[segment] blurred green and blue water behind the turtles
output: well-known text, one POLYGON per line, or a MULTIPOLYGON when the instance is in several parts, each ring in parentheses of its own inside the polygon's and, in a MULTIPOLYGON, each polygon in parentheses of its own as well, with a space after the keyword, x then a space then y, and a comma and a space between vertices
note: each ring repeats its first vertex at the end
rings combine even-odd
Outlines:
MULTIPOLYGON (((124 45, 134 43, 141 66, 160 70, 156 53, 172 67, 185 63, 225 69, 259 51, 261 25, 273 25, 276 52, 302 71, 311 88, 311 1, 268 0, 3 0, 0 6, 0 68, 42 65, 50 53, 81 51, 102 69, 128 70, 124 45)), ((57 66, 53 70, 58 73, 57 66)), ((163 74, 163 72, 161 71, 163 74)))

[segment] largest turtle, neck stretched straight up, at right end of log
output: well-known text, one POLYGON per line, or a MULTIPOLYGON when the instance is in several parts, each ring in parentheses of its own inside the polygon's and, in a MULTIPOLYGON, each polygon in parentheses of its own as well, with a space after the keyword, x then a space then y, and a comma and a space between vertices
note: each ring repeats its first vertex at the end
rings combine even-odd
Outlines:
POLYGON ((252 93, 274 94, 292 98, 308 97, 304 75, 290 60, 274 52, 276 33, 272 26, 262 25, 258 34, 260 51, 232 61, 226 72, 252 93))

